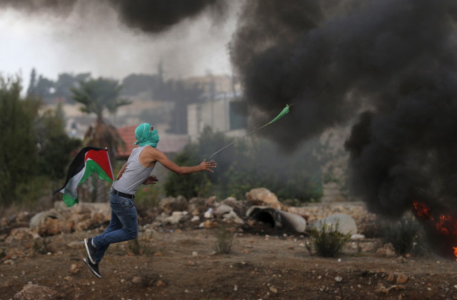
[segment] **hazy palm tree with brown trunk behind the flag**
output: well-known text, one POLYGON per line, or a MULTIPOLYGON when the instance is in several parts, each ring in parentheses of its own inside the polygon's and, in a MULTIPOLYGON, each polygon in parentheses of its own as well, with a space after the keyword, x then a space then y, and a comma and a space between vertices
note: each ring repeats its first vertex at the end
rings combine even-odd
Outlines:
MULTIPOLYGON (((104 121, 103 116, 105 111, 115 114, 119 106, 131 104, 131 101, 119 97, 121 89, 122 86, 119 85, 118 81, 102 77, 79 81, 79 86, 71 89, 71 98, 83 104, 80 108, 81 111, 96 115, 95 124, 89 126, 84 135, 83 145, 107 147, 111 162, 116 157, 117 147, 124 146, 124 142, 116 128, 104 121)), ((103 201, 106 198, 105 186, 102 185, 104 185, 102 181, 94 180, 92 186, 89 187, 92 201, 103 201)))

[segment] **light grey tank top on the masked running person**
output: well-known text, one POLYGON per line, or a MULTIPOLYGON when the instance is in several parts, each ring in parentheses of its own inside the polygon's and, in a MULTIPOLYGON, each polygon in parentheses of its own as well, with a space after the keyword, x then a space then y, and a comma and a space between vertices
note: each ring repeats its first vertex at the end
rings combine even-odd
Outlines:
POLYGON ((113 187, 116 191, 121 191, 126 194, 135 194, 141 184, 143 184, 146 178, 151 174, 154 166, 146 168, 139 161, 140 154, 145 147, 150 146, 137 147, 131 151, 124 173, 118 181, 114 181, 113 183, 113 187))

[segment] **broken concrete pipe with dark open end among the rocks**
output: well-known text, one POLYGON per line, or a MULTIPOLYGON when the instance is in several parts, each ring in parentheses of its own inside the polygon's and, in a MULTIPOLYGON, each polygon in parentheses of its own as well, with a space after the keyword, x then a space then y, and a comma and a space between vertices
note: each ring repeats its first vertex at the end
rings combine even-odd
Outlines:
POLYGON ((267 206, 251 206, 246 212, 246 216, 271 224, 278 230, 304 232, 306 230, 306 220, 302 216, 273 209, 267 206))

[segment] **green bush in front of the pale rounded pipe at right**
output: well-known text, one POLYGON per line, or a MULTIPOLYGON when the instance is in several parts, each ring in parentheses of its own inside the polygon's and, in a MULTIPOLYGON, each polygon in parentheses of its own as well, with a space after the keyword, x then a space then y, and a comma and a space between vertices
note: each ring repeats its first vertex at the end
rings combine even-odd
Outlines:
POLYGON ((311 231, 311 244, 316 250, 318 256, 336 257, 343 251, 343 246, 351 238, 351 234, 342 234, 338 231, 338 223, 322 224, 321 230, 314 229, 311 231))

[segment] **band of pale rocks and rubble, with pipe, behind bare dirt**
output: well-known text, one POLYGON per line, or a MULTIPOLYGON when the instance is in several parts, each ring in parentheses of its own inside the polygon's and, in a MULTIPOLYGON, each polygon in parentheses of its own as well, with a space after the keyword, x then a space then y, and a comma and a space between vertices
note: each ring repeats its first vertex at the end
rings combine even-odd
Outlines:
MULTIPOLYGON (((195 197, 189 201, 183 196, 161 199, 156 208, 139 216, 139 221, 141 221, 141 218, 145 218, 143 222, 149 221, 149 223, 142 226, 140 231, 143 231, 143 233, 149 231, 152 234, 155 231, 169 231, 172 233, 179 230, 179 228, 184 228, 184 226, 213 229, 224 226, 224 224, 232 224, 234 228, 237 228, 235 230, 240 232, 243 232, 246 228, 263 230, 266 229, 264 226, 266 225, 270 226, 269 228, 274 231, 304 233, 313 226, 308 224, 307 220, 312 220, 313 222, 326 220, 328 222, 328 214, 333 214, 334 217, 335 213, 339 213, 341 217, 338 217, 338 220, 340 220, 341 227, 343 227, 342 218, 351 220, 348 223, 351 223, 352 228, 355 230, 358 226, 358 220, 369 219, 369 214, 361 204, 328 203, 288 207, 281 204, 275 194, 264 188, 248 191, 246 199, 238 200, 228 197, 222 201, 216 200, 216 196, 211 196, 207 199, 195 197), (353 220, 356 221, 354 222, 353 220), (171 226, 171 228, 166 229, 164 226, 171 226)), ((56 201, 53 209, 42 211, 34 216, 22 213, 14 216, 14 218, 0 219, 0 224, 5 224, 5 229, 1 231, 0 239, 3 239, 8 245, 6 255, 11 254, 12 251, 19 251, 19 256, 28 255, 24 251, 21 252, 20 249, 16 249, 15 246, 19 244, 22 249, 26 246, 30 251, 34 250, 37 244, 43 244, 42 246, 46 248, 44 251, 54 253, 52 248, 54 238, 58 239, 62 233, 103 227, 109 222, 110 210, 109 203, 80 202, 74 206, 67 207, 63 201, 56 201), (14 220, 22 222, 29 220, 29 224, 25 223, 28 227, 19 227, 14 223, 14 220), (48 238, 47 236, 50 237, 48 238)), ((363 225, 361 226, 363 227, 363 225)), ((288 238, 288 236, 285 236, 285 238, 288 238)), ((66 243, 71 249, 78 249, 82 246, 82 241, 67 241, 66 243)), ((298 244, 301 247, 303 245, 301 242, 298 244)), ((351 244, 349 246, 353 251, 358 251, 358 249, 371 249, 371 251, 374 251, 372 249, 374 241, 369 244, 369 241, 360 234, 351 236, 351 244)), ((376 246, 378 245, 376 244, 376 246)), ((385 246, 383 249, 378 250, 378 253, 390 255, 394 251, 393 248, 389 249, 385 246)), ((6 264, 14 263, 14 261, 7 260, 6 256, 4 256, 1 262, 6 264)))

